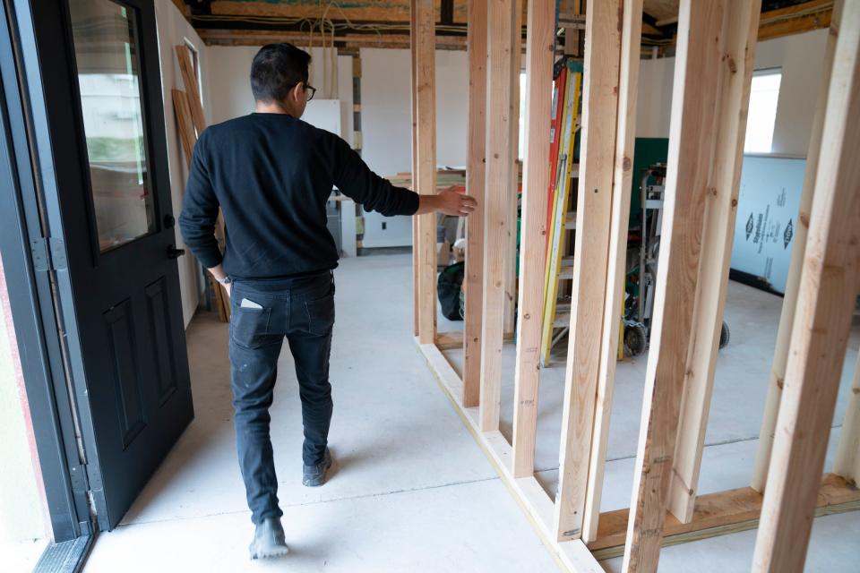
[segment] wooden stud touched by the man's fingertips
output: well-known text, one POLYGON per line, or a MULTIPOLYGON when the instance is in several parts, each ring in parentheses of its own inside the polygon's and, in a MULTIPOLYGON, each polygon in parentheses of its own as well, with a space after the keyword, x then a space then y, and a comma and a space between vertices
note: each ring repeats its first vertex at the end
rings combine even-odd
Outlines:
POLYGON ((466 218, 466 316, 463 324, 463 406, 477 406, 481 385, 486 154, 486 0, 469 2, 469 116, 466 192, 477 209, 466 218))

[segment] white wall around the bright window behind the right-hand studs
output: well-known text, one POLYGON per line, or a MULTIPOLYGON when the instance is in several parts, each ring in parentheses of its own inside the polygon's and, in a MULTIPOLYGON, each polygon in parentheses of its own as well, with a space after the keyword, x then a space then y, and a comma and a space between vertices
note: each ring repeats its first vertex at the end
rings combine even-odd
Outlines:
MULTIPOLYGON (((774 154, 806 156, 815 101, 821 86, 821 62, 828 30, 814 30, 760 42, 755 69, 782 68, 774 154)), ((637 137, 668 137, 675 58, 642 60, 636 110, 637 137)))

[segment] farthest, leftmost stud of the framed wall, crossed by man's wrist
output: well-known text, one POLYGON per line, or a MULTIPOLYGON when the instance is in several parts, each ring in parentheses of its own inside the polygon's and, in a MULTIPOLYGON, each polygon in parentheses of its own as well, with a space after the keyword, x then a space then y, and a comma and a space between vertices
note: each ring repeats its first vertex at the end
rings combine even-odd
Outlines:
MULTIPOLYGON (((415 13, 416 191, 436 192, 435 25, 432 0, 412 0, 415 13)), ((436 329, 436 214, 417 216, 418 338, 432 344, 436 329)))

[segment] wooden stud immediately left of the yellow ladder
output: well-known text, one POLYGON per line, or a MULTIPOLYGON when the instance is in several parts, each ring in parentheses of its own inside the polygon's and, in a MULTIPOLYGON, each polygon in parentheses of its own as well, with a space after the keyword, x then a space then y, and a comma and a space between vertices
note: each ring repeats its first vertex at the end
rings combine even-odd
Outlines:
POLYGON ((529 0, 526 26, 526 115, 520 229, 520 293, 514 371, 512 473, 534 474, 540 336, 549 199, 549 130, 553 89, 555 1, 529 0))

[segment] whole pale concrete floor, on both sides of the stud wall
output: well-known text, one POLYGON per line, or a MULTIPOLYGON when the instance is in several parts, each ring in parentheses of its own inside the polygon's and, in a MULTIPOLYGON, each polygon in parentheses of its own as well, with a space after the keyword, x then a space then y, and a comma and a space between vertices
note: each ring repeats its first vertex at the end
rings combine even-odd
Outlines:
MULTIPOLYGON (((331 448, 337 463, 323 488, 300 483, 297 383, 291 357, 281 356, 272 438, 292 548, 286 559, 247 559, 253 526, 236 465, 227 328, 201 314, 187 335, 196 418, 123 524, 99 536, 85 570, 557 570, 417 352, 409 264, 409 255, 365 257, 344 260, 336 271, 331 448)), ((779 304, 731 286, 733 344, 718 363, 702 492, 748 484, 779 304)), ((440 330, 455 326, 439 322, 440 330)), ((846 377, 858 341, 855 332, 846 377)), ((448 354, 458 362, 458 351, 448 354)), ((512 346, 504 360, 512 372, 512 346)), ((604 509, 630 502, 645 363, 641 357, 619 364, 604 509)), ((557 473, 562 371, 545 371, 540 394, 538 475, 549 491, 557 473)), ((512 379, 503 400, 503 432, 510 435, 512 379)), ((843 411, 844 397, 837 422, 843 411)), ((816 519, 807 570, 852 570, 849 564, 860 562, 857 539, 860 513, 816 519)), ((753 543, 754 532, 745 532, 667 548, 660 570, 749 570, 753 543)), ((604 566, 620 570, 621 560, 604 566)))

